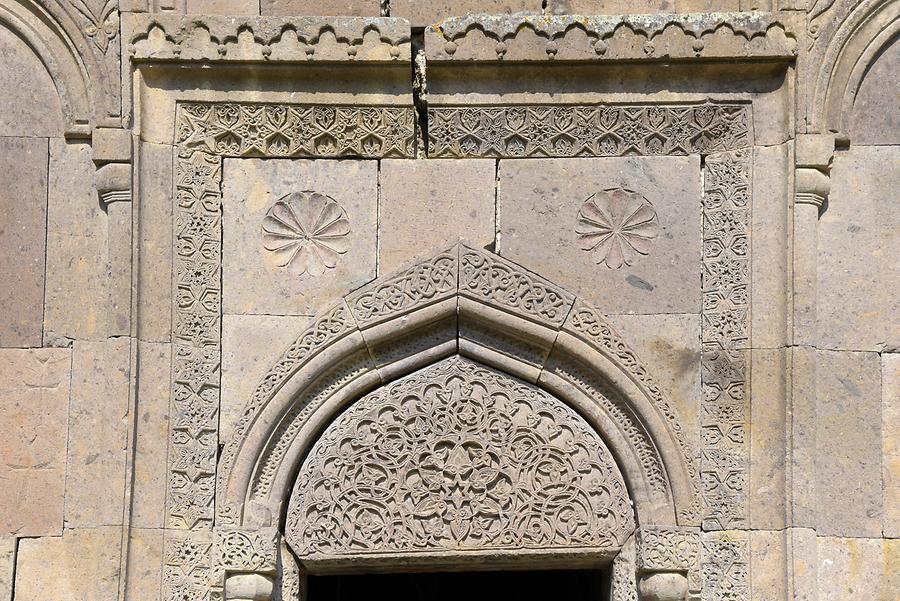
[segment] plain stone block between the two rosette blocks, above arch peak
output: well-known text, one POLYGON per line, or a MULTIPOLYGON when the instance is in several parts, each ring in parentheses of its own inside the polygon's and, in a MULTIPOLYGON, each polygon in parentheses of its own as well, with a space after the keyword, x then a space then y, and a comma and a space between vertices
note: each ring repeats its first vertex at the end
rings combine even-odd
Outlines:
POLYGON ((461 238, 477 247, 494 242, 493 160, 389 159, 380 178, 380 273, 461 238))

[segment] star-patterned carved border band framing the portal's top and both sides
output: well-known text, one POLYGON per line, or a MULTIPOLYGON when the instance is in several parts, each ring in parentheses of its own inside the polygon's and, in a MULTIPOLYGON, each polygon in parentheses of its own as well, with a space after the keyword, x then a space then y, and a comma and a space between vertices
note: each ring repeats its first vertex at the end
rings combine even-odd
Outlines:
MULTIPOLYGON (((702 513, 707 529, 740 527, 748 471, 743 349, 749 337, 750 200, 750 154, 741 149, 752 144, 749 107, 442 107, 431 109, 429 119, 432 156, 709 155, 702 513), (521 150, 512 152, 520 143, 521 150)), ((221 586, 211 530, 219 443, 222 158, 411 157, 415 127, 412 107, 179 104, 164 598, 206 599, 221 586)))

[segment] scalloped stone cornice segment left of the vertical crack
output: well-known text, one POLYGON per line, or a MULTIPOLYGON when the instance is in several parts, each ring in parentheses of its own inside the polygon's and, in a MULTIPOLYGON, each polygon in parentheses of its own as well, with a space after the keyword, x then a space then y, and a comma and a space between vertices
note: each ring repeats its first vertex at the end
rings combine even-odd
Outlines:
POLYGON ((218 17, 130 13, 132 61, 402 63, 409 23, 385 17, 218 17))

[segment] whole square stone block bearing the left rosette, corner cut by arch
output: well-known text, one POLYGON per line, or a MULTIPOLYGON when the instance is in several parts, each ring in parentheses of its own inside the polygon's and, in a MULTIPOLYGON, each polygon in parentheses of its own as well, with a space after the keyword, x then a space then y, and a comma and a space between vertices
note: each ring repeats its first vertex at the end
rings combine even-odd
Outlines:
POLYGON ((312 315, 375 277, 375 161, 227 159, 223 307, 312 315))

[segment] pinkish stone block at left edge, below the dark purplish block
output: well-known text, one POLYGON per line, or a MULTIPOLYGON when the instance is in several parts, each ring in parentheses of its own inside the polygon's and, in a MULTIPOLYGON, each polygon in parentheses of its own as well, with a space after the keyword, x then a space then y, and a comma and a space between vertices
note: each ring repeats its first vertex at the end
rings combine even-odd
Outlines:
POLYGON ((70 349, 0 349, 0 533, 59 534, 70 349))

